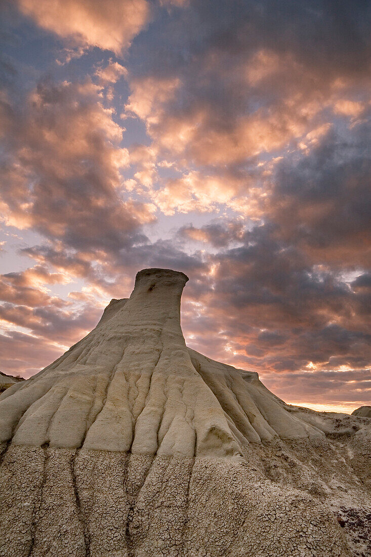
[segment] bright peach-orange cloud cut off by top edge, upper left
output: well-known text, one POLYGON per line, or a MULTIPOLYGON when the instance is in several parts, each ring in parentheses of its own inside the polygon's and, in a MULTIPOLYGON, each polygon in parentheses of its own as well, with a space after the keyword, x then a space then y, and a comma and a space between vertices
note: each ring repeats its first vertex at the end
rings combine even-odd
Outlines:
POLYGON ((20 11, 38 26, 72 45, 97 46, 119 55, 148 23, 145 0, 17 0, 20 11))

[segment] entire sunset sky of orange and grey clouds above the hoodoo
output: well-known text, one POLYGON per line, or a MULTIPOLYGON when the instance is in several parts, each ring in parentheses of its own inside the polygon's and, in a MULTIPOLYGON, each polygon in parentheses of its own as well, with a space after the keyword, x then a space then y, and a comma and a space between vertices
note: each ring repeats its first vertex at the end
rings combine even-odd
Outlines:
POLYGON ((164 267, 191 348, 291 404, 371 404, 370 2, 0 9, 0 370, 164 267))

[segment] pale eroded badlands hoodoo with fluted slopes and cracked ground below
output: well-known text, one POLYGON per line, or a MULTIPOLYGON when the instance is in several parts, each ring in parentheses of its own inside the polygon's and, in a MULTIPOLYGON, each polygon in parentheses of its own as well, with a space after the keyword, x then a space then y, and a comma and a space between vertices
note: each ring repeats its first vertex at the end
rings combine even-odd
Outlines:
POLYGON ((285 404, 188 349, 147 269, 0 397, 1 557, 371 555, 371 418, 285 404))

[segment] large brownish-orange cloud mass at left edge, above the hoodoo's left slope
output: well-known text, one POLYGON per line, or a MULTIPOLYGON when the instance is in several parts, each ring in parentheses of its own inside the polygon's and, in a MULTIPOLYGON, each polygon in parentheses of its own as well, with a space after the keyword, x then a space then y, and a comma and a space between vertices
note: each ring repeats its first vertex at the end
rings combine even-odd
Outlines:
POLYGON ((23 110, 3 103, 3 126, 8 224, 89 251, 120 249, 154 220, 153 206, 120 197, 123 129, 90 81, 41 82, 23 110))

